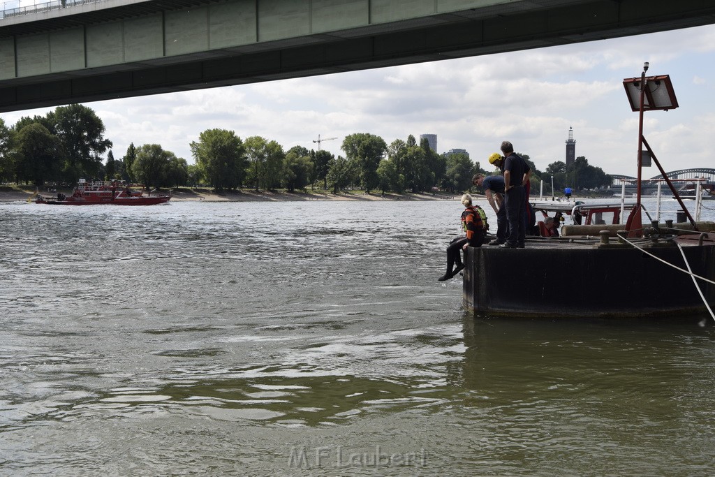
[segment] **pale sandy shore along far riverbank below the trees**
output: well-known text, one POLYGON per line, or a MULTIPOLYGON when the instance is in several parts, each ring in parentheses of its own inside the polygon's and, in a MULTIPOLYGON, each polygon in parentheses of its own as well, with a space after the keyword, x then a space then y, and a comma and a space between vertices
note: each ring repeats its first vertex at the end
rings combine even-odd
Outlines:
MULTIPOLYGON (((41 194, 43 192, 40 192, 41 194)), ((44 192, 46 195, 52 195, 53 192, 44 192)), ((65 194, 71 193, 64 191, 65 194)), ((2 202, 25 202, 31 193, 15 189, 14 187, 0 187, 0 201, 2 202)), ((172 202, 183 201, 199 201, 207 202, 266 202, 266 201, 291 201, 291 200, 349 200, 349 201, 371 201, 371 200, 456 200, 460 195, 440 195, 440 194, 380 194, 373 192, 365 194, 364 192, 354 192, 347 194, 318 194, 307 192, 271 192, 271 191, 247 191, 241 192, 226 192, 225 194, 216 194, 209 189, 181 189, 172 192, 172 202)))

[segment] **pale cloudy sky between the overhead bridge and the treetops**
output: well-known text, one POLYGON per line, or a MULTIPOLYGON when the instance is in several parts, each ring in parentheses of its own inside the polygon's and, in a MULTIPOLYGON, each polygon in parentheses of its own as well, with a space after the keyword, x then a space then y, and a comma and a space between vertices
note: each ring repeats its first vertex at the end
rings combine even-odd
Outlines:
MULTIPOLYGON (((160 144, 194 163, 206 129, 262 136, 344 155, 347 134, 387 144, 437 134, 439 153, 466 149, 482 167, 503 140, 541 171, 576 157, 608 174, 636 175, 638 113, 623 79, 669 74, 678 109, 646 112, 644 137, 667 171, 715 167, 715 25, 320 77, 84 103, 97 113, 115 159, 130 142, 160 144)), ((7 125, 52 108, 1 113, 7 125)), ((655 167, 644 177, 658 174, 655 167)))

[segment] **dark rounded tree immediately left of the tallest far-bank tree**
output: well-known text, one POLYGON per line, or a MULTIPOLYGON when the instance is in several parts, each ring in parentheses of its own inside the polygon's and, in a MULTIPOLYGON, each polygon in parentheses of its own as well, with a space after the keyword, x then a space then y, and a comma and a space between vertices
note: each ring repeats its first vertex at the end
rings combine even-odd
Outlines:
POLYGON ((49 177, 56 177, 59 147, 59 138, 42 124, 35 122, 20 129, 17 133, 18 179, 41 186, 49 177))

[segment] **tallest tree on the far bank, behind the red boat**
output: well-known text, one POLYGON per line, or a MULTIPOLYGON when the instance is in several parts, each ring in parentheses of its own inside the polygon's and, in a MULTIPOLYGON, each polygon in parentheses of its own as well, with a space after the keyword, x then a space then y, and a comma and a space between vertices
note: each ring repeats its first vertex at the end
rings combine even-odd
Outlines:
POLYGON ((82 104, 60 106, 47 114, 54 132, 64 147, 64 172, 71 182, 82 175, 97 177, 102 166, 102 154, 112 147, 104 139, 104 122, 89 107, 82 104))

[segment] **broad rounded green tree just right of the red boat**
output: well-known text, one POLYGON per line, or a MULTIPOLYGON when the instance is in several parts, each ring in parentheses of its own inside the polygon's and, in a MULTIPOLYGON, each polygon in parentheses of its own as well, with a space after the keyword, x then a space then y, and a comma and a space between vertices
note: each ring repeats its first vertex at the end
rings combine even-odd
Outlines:
POLYGON ((207 129, 199 134, 198 142, 191 143, 191 152, 216 190, 241 187, 246 171, 245 147, 235 132, 207 129))

